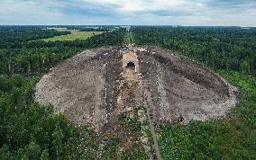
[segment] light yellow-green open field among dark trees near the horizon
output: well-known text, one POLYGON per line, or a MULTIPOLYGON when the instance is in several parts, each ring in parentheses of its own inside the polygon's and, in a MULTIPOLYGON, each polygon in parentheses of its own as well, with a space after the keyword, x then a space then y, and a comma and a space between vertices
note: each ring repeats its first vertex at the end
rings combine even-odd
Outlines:
POLYGON ((58 29, 58 31, 70 31, 71 34, 56 36, 56 37, 43 39, 43 40, 44 41, 87 40, 88 38, 94 35, 99 35, 102 33, 102 31, 78 31, 78 30, 66 30, 66 29, 58 29))

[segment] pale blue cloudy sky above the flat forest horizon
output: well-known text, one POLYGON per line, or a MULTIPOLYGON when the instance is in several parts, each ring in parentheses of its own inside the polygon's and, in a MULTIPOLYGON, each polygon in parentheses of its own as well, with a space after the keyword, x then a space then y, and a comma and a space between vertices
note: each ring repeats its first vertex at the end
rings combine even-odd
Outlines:
POLYGON ((256 26, 256 0, 0 0, 0 25, 256 26))

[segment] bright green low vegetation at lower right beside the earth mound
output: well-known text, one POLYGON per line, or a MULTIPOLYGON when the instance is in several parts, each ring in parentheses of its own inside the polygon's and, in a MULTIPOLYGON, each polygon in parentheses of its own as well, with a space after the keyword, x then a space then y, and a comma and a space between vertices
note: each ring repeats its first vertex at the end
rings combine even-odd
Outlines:
POLYGON ((160 127, 163 159, 256 159, 256 76, 219 72, 243 93, 230 117, 160 127))

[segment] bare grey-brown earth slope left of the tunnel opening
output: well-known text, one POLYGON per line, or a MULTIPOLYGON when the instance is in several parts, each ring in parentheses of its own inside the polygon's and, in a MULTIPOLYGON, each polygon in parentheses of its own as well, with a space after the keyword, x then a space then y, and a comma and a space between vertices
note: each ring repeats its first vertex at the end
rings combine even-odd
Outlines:
POLYGON ((114 105, 121 58, 114 49, 87 50, 70 58, 42 77, 36 99, 53 104, 55 112, 68 115, 77 125, 91 123, 100 129, 114 105))

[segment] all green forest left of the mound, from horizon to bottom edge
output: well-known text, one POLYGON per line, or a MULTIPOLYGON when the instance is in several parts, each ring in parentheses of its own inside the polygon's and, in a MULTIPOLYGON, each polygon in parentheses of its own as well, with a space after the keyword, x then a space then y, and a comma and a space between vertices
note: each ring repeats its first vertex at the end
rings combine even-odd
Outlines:
POLYGON ((41 76, 83 49, 121 46, 123 31, 87 40, 32 41, 68 34, 38 28, 0 29, 0 159, 95 159, 96 134, 75 127, 52 106, 34 102, 41 76))

